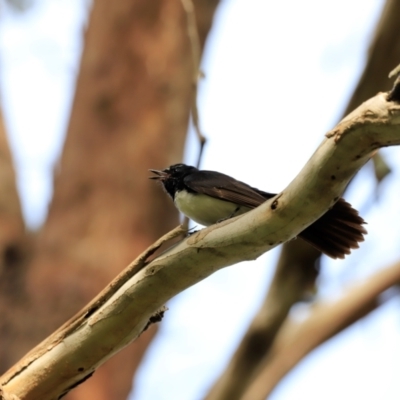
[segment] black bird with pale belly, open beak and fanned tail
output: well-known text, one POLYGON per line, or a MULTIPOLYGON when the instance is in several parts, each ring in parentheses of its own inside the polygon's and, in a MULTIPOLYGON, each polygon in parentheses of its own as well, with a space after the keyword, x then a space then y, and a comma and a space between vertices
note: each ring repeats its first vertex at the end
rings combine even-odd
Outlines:
MULTIPOLYGON (((185 164, 150 170, 171 196, 176 208, 199 224, 209 226, 258 207, 276 196, 215 171, 201 171, 185 164)), ((332 258, 344 258, 357 249, 367 231, 358 211, 340 198, 322 217, 299 234, 332 258)))

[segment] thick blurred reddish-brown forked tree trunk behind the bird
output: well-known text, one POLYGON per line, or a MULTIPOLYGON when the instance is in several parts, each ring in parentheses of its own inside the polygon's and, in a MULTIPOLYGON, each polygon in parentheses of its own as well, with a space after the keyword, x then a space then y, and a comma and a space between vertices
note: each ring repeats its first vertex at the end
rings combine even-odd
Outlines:
MULTIPOLYGON (((217 4, 197 3, 202 45, 217 4)), ((54 196, 29 244, 0 137, 3 371, 178 224, 148 169, 182 159, 197 68, 187 21, 180 0, 94 2, 54 196)), ((154 334, 149 329, 68 398, 125 399, 154 334)))

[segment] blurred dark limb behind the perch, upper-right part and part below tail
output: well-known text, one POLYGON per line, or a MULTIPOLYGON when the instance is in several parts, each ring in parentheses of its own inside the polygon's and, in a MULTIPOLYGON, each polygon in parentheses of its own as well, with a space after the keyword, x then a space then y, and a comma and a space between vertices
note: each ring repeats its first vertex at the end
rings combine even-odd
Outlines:
MULTIPOLYGON (((375 29, 364 72, 344 115, 377 92, 389 90, 393 85, 393 82, 388 79, 388 73, 396 67, 400 60, 399 21, 400 2, 388 0, 375 29)), ((304 242, 287 242, 283 245, 276 277, 271 287, 273 292, 280 293, 280 295, 277 298, 274 297, 274 302, 271 303, 268 299, 272 298, 272 293, 267 293, 266 300, 251 322, 226 370, 207 395, 207 400, 232 400, 241 397, 241 391, 254 379, 260 363, 268 356, 274 336, 290 309, 290 302, 292 304, 297 302, 304 292, 315 284, 318 274, 310 275, 310 271, 315 271, 314 268, 319 264, 320 256, 319 252, 304 242), (288 296, 289 292, 284 289, 287 282, 279 281, 279 276, 292 276, 293 280, 297 280, 298 284, 292 288, 297 293, 291 292, 288 296), (277 306, 276 303, 281 303, 281 306, 277 306), (273 318, 271 318, 271 307, 276 310, 273 318), (261 332, 265 341, 261 346, 260 327, 262 327, 261 332), (273 337, 271 337, 271 332, 274 332, 273 337), (254 348, 257 348, 257 352, 254 352, 254 348), (255 354, 256 356, 254 356, 255 354), (247 368, 243 370, 242 365, 246 365, 247 368)))

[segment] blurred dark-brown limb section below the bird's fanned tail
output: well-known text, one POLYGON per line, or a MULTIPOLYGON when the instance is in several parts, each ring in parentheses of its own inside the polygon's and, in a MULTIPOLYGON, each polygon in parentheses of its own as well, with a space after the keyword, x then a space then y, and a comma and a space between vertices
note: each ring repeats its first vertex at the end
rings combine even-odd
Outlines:
POLYGON ((300 300, 304 288, 314 282, 314 258, 319 251, 309 250, 300 240, 287 245, 290 251, 282 253, 263 304, 206 400, 235 400, 243 395, 292 305, 300 300))

